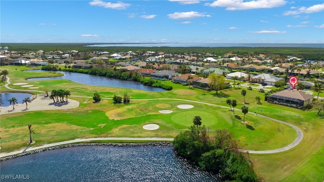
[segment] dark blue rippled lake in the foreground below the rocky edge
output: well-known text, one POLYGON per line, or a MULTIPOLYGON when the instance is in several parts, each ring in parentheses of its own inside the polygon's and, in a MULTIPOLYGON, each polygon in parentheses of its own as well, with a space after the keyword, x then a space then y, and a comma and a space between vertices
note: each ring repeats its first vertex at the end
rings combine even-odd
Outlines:
POLYGON ((50 150, 2 161, 1 175, 10 174, 28 181, 220 181, 167 146, 50 150))

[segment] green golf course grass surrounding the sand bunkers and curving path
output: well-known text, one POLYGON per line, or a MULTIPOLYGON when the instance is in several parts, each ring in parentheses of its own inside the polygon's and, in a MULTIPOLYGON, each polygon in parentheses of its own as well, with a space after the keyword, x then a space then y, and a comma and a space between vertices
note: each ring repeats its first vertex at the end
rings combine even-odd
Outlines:
MULTIPOLYGON (((35 146, 41 146, 78 138, 174 138, 179 132, 192 125, 195 115, 201 117, 201 122, 210 128, 210 132, 223 128, 233 132, 235 139, 238 139, 239 144, 247 150, 277 149, 287 146, 296 139, 297 133, 293 128, 259 117, 264 115, 296 125, 303 131, 304 138, 299 145, 285 152, 250 154, 257 173, 264 176, 266 181, 321 181, 323 179, 323 176, 319 174, 324 173, 324 168, 320 167, 323 164, 324 120, 316 116, 315 109, 300 110, 270 104, 263 101, 263 93, 257 90, 247 90, 245 100, 248 104, 244 104, 244 98, 240 94, 241 89, 247 89, 244 87, 225 89, 219 94, 205 92, 206 95, 204 95, 201 89, 189 89, 188 86, 165 81, 165 84, 173 86, 173 90, 147 92, 128 88, 90 86, 69 80, 29 81, 26 78, 39 77, 39 72, 21 72, 19 69, 28 68, 17 66, 2 66, 1 69, 9 70, 8 77, 12 83, 27 82, 39 87, 35 89, 38 91, 49 89, 51 92, 52 89, 67 89, 71 92, 69 99, 80 103, 78 108, 59 112, 30 111, 1 115, 1 152, 16 151, 26 147, 29 139, 28 124, 32 124, 36 133, 33 135, 33 140, 36 141, 35 146), (92 96, 95 92, 103 98, 102 102, 93 103, 92 96), (114 95, 122 96, 124 93, 131 96, 130 104, 112 103, 111 98, 114 95), (262 98, 261 104, 256 103, 256 96, 262 98), (237 101, 235 116, 233 111, 227 108, 229 107, 226 104, 227 99, 237 101), (179 104, 191 104, 194 107, 179 109, 177 108, 179 104), (242 123, 243 113, 240 107, 243 105, 249 107, 250 113, 246 115, 249 126, 242 123), (170 114, 158 112, 163 109, 170 109, 173 112, 170 114), (143 125, 149 123, 158 124, 160 127, 156 130, 142 128, 143 125), (307 171, 307 173, 301 171, 307 171)), ((4 88, 3 83, 0 85, 1 92, 3 90, 11 92, 4 88)), ((16 89, 28 89, 13 84, 9 86, 16 89)))

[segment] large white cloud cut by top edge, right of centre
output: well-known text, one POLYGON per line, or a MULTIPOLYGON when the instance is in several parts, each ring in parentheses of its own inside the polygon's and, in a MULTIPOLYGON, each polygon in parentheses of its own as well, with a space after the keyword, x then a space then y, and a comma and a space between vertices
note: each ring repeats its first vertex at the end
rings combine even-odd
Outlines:
POLYGON ((286 5, 285 0, 255 0, 244 2, 243 0, 217 0, 213 3, 206 3, 211 7, 226 7, 226 10, 250 10, 260 8, 275 8, 286 5))

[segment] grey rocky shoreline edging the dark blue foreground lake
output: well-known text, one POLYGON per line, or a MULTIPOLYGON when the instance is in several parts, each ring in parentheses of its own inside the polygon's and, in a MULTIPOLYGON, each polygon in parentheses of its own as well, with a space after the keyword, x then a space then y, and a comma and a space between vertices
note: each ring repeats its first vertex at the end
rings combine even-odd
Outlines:
POLYGON ((54 149, 63 149, 68 147, 79 147, 79 146, 113 146, 113 147, 145 147, 145 146, 170 146, 173 147, 172 142, 145 142, 145 143, 82 143, 82 144, 68 144, 62 146, 49 147, 44 149, 38 149, 34 151, 28 151, 21 154, 0 158, 0 161, 10 160, 16 157, 26 156, 30 154, 35 154, 39 152, 54 150, 54 149))

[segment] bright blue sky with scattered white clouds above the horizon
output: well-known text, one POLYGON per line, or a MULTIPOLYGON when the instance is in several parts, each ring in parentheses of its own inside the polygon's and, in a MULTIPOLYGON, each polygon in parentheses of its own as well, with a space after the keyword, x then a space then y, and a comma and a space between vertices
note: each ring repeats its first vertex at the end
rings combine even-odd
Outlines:
POLYGON ((0 42, 324 43, 324 1, 0 2, 0 42))

